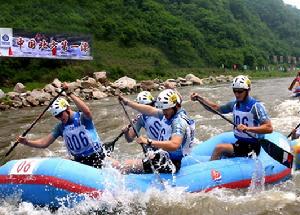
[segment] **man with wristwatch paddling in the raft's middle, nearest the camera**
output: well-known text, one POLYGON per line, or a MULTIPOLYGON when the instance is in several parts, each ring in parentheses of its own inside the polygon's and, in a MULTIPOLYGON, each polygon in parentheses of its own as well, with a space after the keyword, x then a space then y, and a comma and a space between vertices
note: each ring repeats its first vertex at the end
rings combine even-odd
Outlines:
POLYGON ((157 96, 156 107, 139 104, 123 96, 119 96, 119 100, 124 105, 147 116, 163 120, 168 125, 165 127, 164 133, 159 134, 161 139, 154 140, 145 136, 139 136, 136 139, 138 144, 161 149, 166 153, 161 156, 158 150, 154 152, 153 156, 148 156, 143 160, 127 161, 125 162, 127 166, 128 164, 132 165, 130 169, 126 168, 125 172, 150 173, 153 172, 150 165, 153 165, 154 169, 160 173, 173 173, 174 168, 174 172, 177 172, 181 167, 182 158, 189 154, 194 144, 195 123, 181 108, 181 98, 176 91, 172 89, 162 91, 157 96))

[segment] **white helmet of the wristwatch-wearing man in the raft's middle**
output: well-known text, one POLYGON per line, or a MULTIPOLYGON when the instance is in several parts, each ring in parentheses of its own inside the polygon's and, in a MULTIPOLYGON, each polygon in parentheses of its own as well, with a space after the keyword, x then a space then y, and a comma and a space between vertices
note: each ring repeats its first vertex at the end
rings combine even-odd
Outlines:
POLYGON ((181 99, 176 91, 167 89, 162 91, 156 99, 155 106, 156 108, 165 110, 168 108, 175 107, 176 104, 180 104, 181 99))

